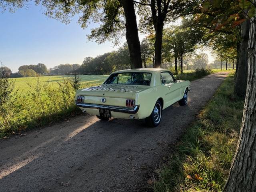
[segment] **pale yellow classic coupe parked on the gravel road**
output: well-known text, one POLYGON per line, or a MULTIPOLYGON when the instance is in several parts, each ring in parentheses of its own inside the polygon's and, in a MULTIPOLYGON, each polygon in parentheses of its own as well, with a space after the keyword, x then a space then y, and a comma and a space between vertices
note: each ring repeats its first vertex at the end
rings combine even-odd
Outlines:
POLYGON ((165 69, 140 68, 113 72, 100 86, 77 90, 76 105, 101 120, 145 119, 158 126, 162 110, 178 102, 186 105, 190 81, 176 80, 165 69))

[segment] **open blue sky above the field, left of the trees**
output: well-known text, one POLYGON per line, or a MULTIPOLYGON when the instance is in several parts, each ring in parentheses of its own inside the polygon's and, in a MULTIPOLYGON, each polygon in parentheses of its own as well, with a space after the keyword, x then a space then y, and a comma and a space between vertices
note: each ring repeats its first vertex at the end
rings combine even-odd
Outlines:
MULTIPOLYGON (((83 30, 78 16, 68 25, 46 17, 40 6, 28 5, 14 13, 0 12, 0 60, 13 72, 21 65, 46 64, 47 68, 78 63, 87 56, 97 56, 118 47, 106 42, 88 42, 91 24, 83 30)), ((125 38, 122 39, 124 42, 125 38)))

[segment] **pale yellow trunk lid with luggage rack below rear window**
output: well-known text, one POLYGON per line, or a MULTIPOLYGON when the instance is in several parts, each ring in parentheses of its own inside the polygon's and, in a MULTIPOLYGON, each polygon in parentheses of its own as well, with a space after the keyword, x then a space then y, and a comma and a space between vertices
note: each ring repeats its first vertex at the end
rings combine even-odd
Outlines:
POLYGON ((150 88, 149 86, 136 85, 101 85, 84 88, 77 94, 86 96, 105 96, 116 98, 132 98, 132 95, 150 88))

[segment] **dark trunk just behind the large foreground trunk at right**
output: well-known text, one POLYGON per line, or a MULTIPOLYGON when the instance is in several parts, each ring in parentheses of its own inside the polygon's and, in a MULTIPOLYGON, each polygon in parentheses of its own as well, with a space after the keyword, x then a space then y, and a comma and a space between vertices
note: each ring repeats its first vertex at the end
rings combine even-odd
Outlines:
POLYGON ((249 39, 250 21, 246 20, 241 24, 241 43, 240 54, 236 64, 236 76, 234 94, 238 96, 245 96, 246 81, 247 81, 247 58, 248 58, 248 39, 249 39))

